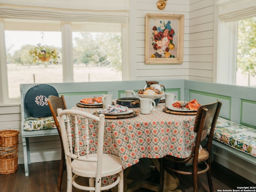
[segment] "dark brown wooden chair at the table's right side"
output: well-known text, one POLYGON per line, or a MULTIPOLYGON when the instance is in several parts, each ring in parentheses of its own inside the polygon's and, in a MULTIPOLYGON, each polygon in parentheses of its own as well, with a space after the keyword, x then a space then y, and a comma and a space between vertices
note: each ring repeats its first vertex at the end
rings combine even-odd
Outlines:
POLYGON ((220 108, 222 103, 217 100, 212 104, 207 104, 200 106, 196 113, 196 120, 194 125, 194 132, 196 133, 195 146, 188 158, 176 158, 174 156, 167 155, 160 160, 160 190, 163 192, 164 188, 164 170, 176 172, 178 174, 192 175, 193 176, 193 188, 194 192, 198 192, 198 174, 203 174, 207 172, 208 184, 210 192, 213 191, 212 186, 212 174, 211 174, 211 149, 212 149, 212 139, 214 134, 215 124, 218 120, 220 113, 220 108), (200 142, 206 138, 206 132, 210 130, 208 135, 208 142, 205 147, 200 150, 200 142), (200 150, 200 152, 199 152, 200 150), (167 165, 168 161, 174 162, 174 168, 167 165), (182 171, 178 169, 179 163, 192 164, 193 169, 191 172, 182 171), (204 168, 198 170, 198 163, 203 163, 204 168))

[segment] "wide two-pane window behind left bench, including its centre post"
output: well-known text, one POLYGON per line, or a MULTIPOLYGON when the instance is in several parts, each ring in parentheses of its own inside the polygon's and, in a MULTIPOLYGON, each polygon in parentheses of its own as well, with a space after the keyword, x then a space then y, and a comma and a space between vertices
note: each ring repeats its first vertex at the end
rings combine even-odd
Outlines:
POLYGON ((124 79, 124 24, 14 19, 3 23, 6 101, 19 102, 23 83, 124 79))

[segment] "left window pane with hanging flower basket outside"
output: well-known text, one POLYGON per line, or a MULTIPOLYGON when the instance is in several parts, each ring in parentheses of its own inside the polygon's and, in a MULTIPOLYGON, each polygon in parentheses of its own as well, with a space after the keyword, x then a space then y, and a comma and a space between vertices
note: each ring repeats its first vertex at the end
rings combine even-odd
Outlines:
POLYGON ((60 22, 6 20, 4 34, 8 98, 20 97, 21 83, 63 82, 60 22), (60 58, 56 63, 53 59, 41 61, 36 57, 38 53, 30 54, 38 46, 42 48, 38 53, 49 47, 60 58))

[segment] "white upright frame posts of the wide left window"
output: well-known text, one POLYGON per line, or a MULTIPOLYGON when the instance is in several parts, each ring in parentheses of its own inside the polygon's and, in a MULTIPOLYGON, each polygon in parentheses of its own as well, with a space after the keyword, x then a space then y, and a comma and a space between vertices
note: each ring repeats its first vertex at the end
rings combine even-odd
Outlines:
MULTIPOLYGON (((122 80, 129 80, 129 29, 128 23, 120 24, 122 26, 122 80)), ((60 22, 60 25, 60 32, 62 34, 63 82, 73 82, 72 22, 60 22)), ((15 104, 20 103, 20 98, 8 97, 4 30, 4 19, 0 19, 0 104, 15 104)))

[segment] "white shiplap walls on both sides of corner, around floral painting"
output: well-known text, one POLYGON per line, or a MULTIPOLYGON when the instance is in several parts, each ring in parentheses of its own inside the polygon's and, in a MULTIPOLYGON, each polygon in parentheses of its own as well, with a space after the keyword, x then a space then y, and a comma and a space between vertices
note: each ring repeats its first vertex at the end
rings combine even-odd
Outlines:
POLYGON ((212 82, 214 0, 172 0, 164 10, 156 0, 130 1, 130 78, 189 79, 212 82), (184 14, 184 62, 145 64, 145 14, 184 14))

